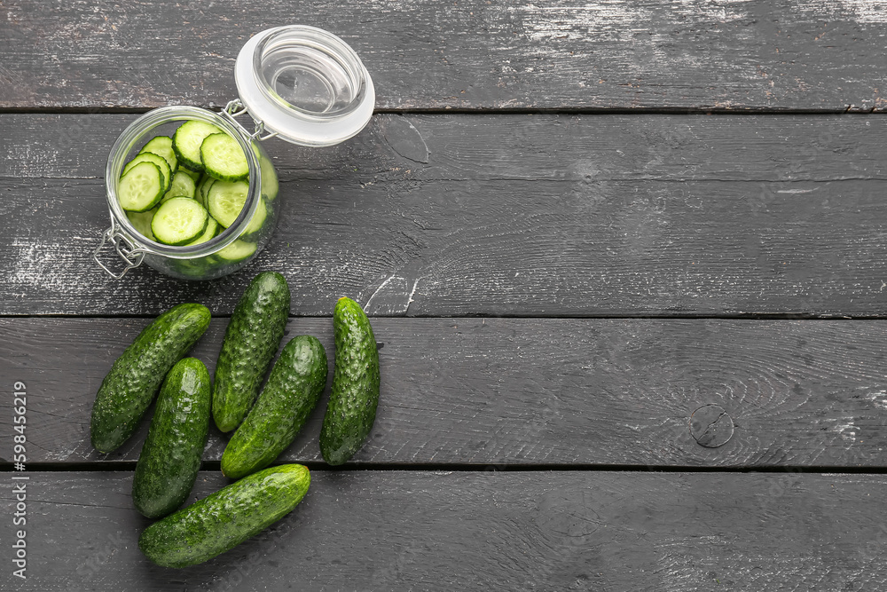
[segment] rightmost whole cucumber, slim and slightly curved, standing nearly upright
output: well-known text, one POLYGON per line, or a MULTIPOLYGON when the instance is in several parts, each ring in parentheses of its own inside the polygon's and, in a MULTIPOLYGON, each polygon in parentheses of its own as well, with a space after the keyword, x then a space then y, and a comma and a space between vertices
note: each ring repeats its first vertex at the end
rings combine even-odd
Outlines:
POLYGON ((363 446, 379 405, 379 351, 370 320, 349 298, 333 312, 335 364, 333 388, 320 430, 320 453, 341 464, 363 446))

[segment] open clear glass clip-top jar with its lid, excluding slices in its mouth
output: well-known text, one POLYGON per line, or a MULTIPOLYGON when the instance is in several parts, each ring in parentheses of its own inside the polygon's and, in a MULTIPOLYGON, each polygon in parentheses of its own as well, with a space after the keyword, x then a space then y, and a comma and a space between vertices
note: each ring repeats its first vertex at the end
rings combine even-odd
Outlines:
POLYGON ((278 223, 278 177, 261 140, 278 137, 300 146, 332 146, 362 130, 373 114, 375 92, 366 68, 347 43, 322 29, 272 28, 253 36, 235 63, 239 99, 221 113, 200 107, 160 107, 122 132, 105 170, 111 226, 93 253, 96 263, 120 279, 145 263, 181 280, 212 280, 252 261, 278 223), (249 114, 255 130, 238 121, 249 114), (247 156, 249 188, 239 217, 222 233, 197 245, 171 246, 137 231, 120 205, 118 187, 127 162, 151 138, 169 136, 184 121, 215 125, 247 156), (110 243, 122 260, 114 272, 99 257, 110 243))

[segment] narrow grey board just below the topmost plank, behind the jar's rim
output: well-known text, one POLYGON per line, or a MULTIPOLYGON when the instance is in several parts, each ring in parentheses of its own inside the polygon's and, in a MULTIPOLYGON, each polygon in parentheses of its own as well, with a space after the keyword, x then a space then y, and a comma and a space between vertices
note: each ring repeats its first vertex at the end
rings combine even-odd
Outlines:
MULTIPOLYGON (((102 179, 139 116, 0 114, 0 178, 102 179)), ((866 114, 376 114, 338 146, 263 147, 285 181, 766 183, 885 178, 885 136, 866 114)))

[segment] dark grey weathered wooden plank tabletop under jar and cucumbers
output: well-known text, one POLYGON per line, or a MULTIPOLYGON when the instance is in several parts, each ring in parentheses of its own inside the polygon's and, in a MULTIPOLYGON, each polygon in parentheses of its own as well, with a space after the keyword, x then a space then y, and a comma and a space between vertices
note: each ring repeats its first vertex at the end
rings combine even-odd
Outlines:
MULTIPOLYGON (((887 3, 0 8, 0 589, 884 588, 887 3), (240 46, 292 22, 364 59, 367 129, 265 143, 283 212, 245 271, 100 272, 117 135, 223 106, 240 46), (156 567, 130 501, 146 424, 96 453, 95 392, 184 301, 216 317, 194 350, 212 370, 263 270, 329 352, 335 299, 365 305, 373 433, 330 470, 318 408, 280 459, 312 471, 292 514, 156 567)), ((226 483, 224 442, 192 499, 226 483)))

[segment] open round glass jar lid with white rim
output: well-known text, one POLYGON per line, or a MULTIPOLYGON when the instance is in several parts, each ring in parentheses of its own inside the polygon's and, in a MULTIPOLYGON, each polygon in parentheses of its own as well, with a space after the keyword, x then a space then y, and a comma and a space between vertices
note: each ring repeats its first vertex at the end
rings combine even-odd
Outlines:
POLYGON ((240 102, 263 129, 301 146, 332 146, 373 115, 373 81, 332 33, 291 25, 253 36, 234 67, 240 102))

